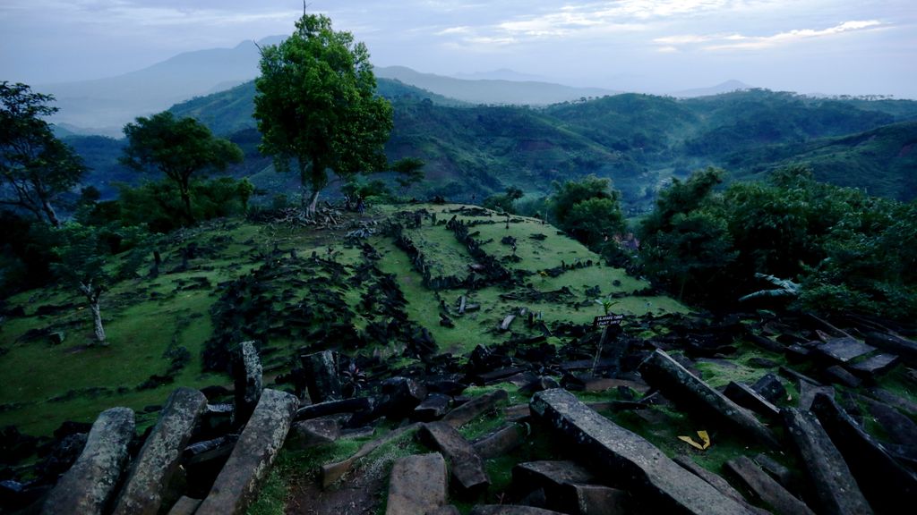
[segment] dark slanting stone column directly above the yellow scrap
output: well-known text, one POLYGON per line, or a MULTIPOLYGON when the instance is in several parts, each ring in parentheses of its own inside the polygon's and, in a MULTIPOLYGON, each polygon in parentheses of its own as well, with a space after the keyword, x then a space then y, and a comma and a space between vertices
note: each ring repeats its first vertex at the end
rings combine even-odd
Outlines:
POLYGON ((663 351, 656 350, 641 368, 646 381, 660 389, 667 398, 681 402, 689 410, 702 411, 728 423, 761 444, 779 448, 774 434, 755 415, 742 408, 663 351))

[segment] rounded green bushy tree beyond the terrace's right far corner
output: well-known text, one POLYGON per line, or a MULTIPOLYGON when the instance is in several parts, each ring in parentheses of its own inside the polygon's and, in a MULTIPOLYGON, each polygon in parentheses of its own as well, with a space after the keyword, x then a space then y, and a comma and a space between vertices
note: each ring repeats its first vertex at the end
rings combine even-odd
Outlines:
POLYGON ((593 175, 580 181, 554 183, 551 214, 561 229, 587 247, 594 247, 624 229, 620 193, 611 181, 593 175))

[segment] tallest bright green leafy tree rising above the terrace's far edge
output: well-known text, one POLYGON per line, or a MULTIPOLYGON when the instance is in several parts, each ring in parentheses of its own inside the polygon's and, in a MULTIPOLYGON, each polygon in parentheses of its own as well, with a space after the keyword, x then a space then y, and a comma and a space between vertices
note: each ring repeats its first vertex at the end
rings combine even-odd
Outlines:
POLYGON ((386 168, 392 105, 377 96, 370 53, 323 15, 303 15, 279 45, 261 49, 255 119, 261 152, 299 171, 303 206, 315 214, 328 170, 344 179, 386 168))

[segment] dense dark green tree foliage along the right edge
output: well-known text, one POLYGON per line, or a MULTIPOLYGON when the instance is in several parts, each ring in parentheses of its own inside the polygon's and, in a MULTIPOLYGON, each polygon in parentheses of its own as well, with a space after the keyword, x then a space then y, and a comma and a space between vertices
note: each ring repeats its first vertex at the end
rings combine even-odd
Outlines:
POLYGON ((823 184, 798 166, 722 193, 719 176, 675 181, 644 221, 641 262, 657 283, 716 304, 774 276, 801 284, 805 309, 906 317, 917 308, 914 203, 823 184))

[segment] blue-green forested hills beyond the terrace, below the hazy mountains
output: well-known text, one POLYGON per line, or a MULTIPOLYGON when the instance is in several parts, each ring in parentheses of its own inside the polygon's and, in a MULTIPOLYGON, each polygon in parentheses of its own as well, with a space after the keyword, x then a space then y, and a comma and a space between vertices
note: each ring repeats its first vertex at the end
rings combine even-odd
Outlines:
MULTIPOLYGON (((386 79, 391 159, 424 159, 428 181, 412 194, 478 199, 508 186, 540 196, 552 181, 609 177, 632 212, 651 207, 672 176, 717 166, 757 176, 810 163, 816 178, 899 200, 917 196, 917 102, 821 99, 749 90, 692 99, 625 93, 544 108, 469 105, 386 79)), ((244 170, 264 170, 251 117, 253 82, 176 104, 247 148, 244 170)), ((270 187, 261 173, 262 187, 270 187)), ((256 178, 256 184, 259 179, 256 178)))

